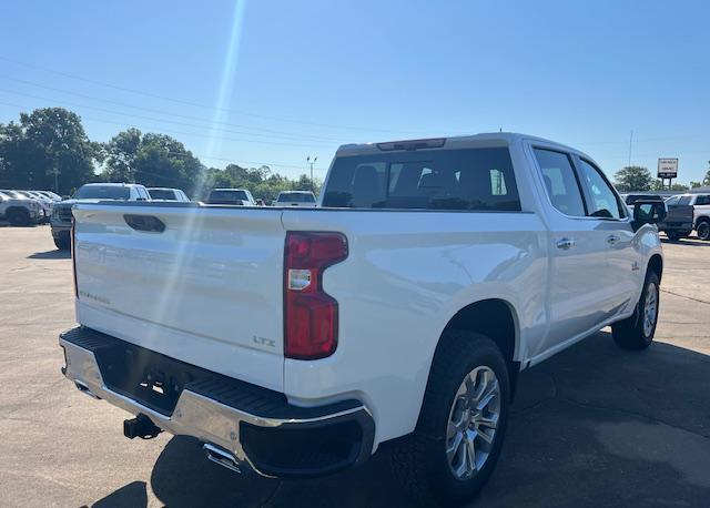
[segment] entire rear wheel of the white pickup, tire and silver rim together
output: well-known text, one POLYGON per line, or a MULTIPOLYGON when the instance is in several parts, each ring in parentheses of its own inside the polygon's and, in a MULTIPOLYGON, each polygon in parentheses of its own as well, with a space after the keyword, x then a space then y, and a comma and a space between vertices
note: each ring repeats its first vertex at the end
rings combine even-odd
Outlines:
POLYGON ((488 337, 449 331, 434 357, 415 433, 393 466, 416 502, 469 501, 495 468, 510 400, 506 362, 488 337))

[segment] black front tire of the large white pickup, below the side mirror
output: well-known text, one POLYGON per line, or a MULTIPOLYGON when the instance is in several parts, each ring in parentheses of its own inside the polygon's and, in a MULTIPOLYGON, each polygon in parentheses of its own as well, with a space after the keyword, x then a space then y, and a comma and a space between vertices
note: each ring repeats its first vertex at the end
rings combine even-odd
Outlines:
POLYGON ((636 305, 633 314, 618 323, 611 325, 611 335, 613 342, 622 349, 646 349, 653 342, 653 334, 656 334, 656 325, 658 324, 658 308, 660 296, 660 284, 658 274, 651 270, 646 274, 646 282, 643 283, 643 289, 641 291, 641 297, 636 305), (649 286, 652 285, 652 289, 649 286), (647 296, 649 291, 652 291, 656 298, 656 311, 653 316, 652 326, 645 325, 645 316, 647 305, 649 304, 649 297, 647 296))

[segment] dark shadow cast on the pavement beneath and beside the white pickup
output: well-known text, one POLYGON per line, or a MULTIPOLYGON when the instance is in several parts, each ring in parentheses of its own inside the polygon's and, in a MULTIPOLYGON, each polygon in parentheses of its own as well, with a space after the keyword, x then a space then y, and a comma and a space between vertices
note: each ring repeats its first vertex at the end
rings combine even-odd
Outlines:
MULTIPOLYGON (((503 456, 476 506, 707 506, 709 408, 710 357, 663 343, 623 352, 599 333, 520 375, 503 456)), ((151 487, 166 506, 409 506, 388 459, 278 481, 235 475, 175 437, 151 487)), ((97 506, 144 506, 135 484, 97 506)))

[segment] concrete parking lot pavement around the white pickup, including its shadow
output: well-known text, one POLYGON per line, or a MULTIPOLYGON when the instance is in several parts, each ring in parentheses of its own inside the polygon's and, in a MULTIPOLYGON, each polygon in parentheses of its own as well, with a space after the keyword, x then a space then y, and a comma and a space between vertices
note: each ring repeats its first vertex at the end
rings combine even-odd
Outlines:
MULTIPOLYGON (((665 243, 657 343, 602 331, 525 372, 503 457, 476 506, 710 504, 710 242, 665 243)), ((59 369, 71 260, 48 226, 0 227, 0 505, 406 506, 387 457, 322 480, 239 476, 197 443, 128 440, 128 414, 59 369)))

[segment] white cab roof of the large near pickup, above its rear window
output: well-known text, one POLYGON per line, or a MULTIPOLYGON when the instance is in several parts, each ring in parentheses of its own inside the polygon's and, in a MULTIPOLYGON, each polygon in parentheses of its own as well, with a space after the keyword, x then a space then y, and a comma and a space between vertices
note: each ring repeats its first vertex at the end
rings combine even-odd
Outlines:
POLYGON ((456 135, 456 136, 439 136, 439 138, 425 138, 425 139, 409 139, 409 140, 397 140, 397 141, 378 141, 378 142, 368 142, 368 143, 353 143, 353 144, 344 144, 341 145, 337 150, 337 155, 355 155, 355 154, 365 154, 365 153, 382 153, 378 149, 381 144, 389 144, 389 143, 406 143, 413 141, 430 141, 430 140, 445 140, 445 143, 440 148, 426 148, 418 150, 447 150, 453 148, 474 148, 480 145, 496 145, 508 146, 517 143, 521 140, 527 141, 537 141, 545 144, 552 144, 562 150, 582 153, 580 150, 568 146, 566 144, 559 143, 557 141, 547 140, 545 138, 523 134, 519 132, 483 132, 480 134, 473 135, 456 135))

